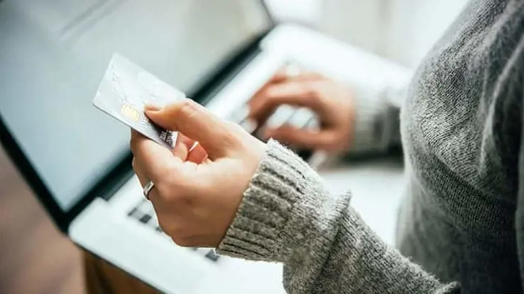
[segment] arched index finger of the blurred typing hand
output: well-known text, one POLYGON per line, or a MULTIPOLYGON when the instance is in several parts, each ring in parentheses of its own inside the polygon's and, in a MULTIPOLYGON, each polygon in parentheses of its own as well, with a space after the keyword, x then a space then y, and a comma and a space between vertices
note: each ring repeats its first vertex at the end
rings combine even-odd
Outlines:
POLYGON ((250 105, 250 117, 259 123, 268 118, 278 106, 283 104, 302 106, 317 113, 322 112, 322 101, 317 83, 293 81, 268 87, 250 105))

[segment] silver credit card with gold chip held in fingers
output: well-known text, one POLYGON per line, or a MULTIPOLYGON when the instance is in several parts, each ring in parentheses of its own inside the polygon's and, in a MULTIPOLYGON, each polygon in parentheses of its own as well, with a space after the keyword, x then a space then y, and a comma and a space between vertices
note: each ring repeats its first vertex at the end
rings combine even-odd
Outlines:
POLYGON ((185 98, 182 91, 114 54, 100 82, 93 104, 99 110, 168 148, 176 142, 177 132, 155 125, 144 113, 146 104, 167 105, 185 98))

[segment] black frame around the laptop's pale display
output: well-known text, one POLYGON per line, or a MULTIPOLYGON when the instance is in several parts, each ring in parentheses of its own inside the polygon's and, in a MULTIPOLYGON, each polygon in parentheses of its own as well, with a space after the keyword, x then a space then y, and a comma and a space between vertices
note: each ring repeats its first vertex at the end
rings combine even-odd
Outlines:
MULTIPOLYGON (((1 0, 0 0, 1 1, 1 0)), ((201 104, 207 103, 212 94, 218 91, 228 81, 232 72, 241 66, 247 59, 249 59, 253 53, 259 50, 258 44, 260 41, 275 27, 275 22, 268 13, 264 1, 261 0, 264 8, 264 12, 268 17, 268 28, 263 30, 261 33, 253 38, 251 42, 241 45, 234 50, 231 50, 230 54, 219 62, 215 67, 209 70, 204 77, 195 85, 190 91, 187 92, 187 96, 190 96, 195 101, 201 104)), ((121 161, 110 169, 104 176, 97 181, 83 196, 80 197, 75 205, 69 210, 65 211, 60 208, 58 202, 53 197, 48 186, 45 185, 43 179, 39 176, 38 171, 33 167, 31 161, 28 159, 26 154, 21 149, 21 145, 16 141, 16 137, 11 134, 9 128, 7 128, 4 118, 0 115, 0 142, 4 147, 4 150, 11 162, 21 174, 23 179, 28 183, 33 193, 43 205, 48 215, 53 220, 58 229, 67 234, 69 226, 72 220, 84 210, 89 203, 95 198, 109 198, 112 196, 121 186, 126 183, 134 175, 131 160, 133 158, 131 152, 127 152, 121 161)))

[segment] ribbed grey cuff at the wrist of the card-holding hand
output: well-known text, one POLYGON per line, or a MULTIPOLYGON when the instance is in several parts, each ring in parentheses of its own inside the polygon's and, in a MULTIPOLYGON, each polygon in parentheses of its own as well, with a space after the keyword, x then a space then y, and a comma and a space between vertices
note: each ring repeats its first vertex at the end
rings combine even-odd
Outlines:
POLYGON ((217 248, 219 254, 242 259, 281 261, 292 254, 307 213, 305 196, 323 193, 320 176, 300 157, 270 140, 251 179, 234 221, 217 248))

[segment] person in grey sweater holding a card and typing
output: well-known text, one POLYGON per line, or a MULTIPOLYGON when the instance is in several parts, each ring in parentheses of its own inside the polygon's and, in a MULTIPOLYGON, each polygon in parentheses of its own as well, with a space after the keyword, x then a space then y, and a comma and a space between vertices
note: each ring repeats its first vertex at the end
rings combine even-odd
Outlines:
MULTIPOLYGON (((170 152, 133 133, 134 167, 143 186, 154 183, 148 197, 177 244, 282 262, 290 293, 522 293, 523 72, 519 0, 471 1, 422 62, 400 115, 409 181, 399 251, 366 226, 349 193, 329 195, 295 154, 191 101, 148 108, 187 137, 170 152), (200 145, 189 152, 193 140, 200 145)), ((382 128, 397 118, 386 104, 275 89, 254 99, 253 118, 293 103, 315 110, 324 128, 268 135, 332 150, 395 140, 382 128)))

